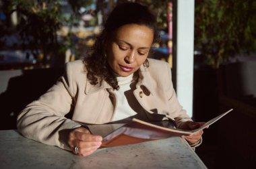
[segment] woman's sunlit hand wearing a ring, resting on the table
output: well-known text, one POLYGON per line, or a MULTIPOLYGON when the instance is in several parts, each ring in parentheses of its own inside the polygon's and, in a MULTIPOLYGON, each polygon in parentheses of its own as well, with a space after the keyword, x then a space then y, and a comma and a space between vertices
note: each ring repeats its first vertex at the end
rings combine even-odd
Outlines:
POLYGON ((102 144, 102 136, 92 135, 88 129, 77 127, 69 133, 68 144, 74 154, 77 147, 77 155, 89 156, 102 144))

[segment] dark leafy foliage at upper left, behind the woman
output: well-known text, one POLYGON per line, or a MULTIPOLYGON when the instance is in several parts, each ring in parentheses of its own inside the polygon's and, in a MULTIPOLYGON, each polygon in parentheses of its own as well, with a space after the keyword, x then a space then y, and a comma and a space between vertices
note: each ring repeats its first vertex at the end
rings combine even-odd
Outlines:
POLYGON ((63 57, 67 48, 72 48, 71 32, 59 40, 57 32, 62 26, 72 27, 81 17, 80 7, 92 4, 92 0, 68 1, 73 13, 64 15, 60 0, 11 0, 7 13, 18 13, 18 24, 13 28, 22 38, 22 49, 32 50, 34 56, 42 57, 45 64, 49 57, 63 57))

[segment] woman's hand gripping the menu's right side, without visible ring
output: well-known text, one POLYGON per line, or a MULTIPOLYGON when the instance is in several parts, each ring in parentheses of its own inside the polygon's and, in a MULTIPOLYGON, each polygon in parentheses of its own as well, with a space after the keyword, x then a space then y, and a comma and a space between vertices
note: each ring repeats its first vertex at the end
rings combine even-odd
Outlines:
MULTIPOLYGON (((180 129, 188 129, 188 130, 193 130, 199 128, 201 125, 203 125, 205 122, 193 122, 193 121, 185 121, 181 123, 180 129)), ((189 144, 195 144, 199 142, 203 135, 203 130, 199 130, 195 133, 192 133, 191 135, 183 136, 189 142, 189 144)))

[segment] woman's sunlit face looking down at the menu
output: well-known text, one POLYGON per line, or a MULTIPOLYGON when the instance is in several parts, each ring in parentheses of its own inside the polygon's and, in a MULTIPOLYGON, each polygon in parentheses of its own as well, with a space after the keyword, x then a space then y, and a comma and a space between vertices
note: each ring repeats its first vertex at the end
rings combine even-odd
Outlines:
POLYGON ((119 76, 129 76, 145 62, 153 39, 153 30, 145 25, 119 27, 106 44, 108 64, 119 76))

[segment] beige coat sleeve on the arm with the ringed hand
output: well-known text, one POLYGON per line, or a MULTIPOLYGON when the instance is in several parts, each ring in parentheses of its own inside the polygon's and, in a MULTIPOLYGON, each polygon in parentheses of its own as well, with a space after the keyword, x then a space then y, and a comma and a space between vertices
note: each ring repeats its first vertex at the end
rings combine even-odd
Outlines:
POLYGON ((18 131, 37 142, 69 150, 65 140, 66 133, 69 129, 80 126, 65 118, 73 106, 74 84, 71 66, 67 64, 65 74, 57 83, 18 115, 18 131))

